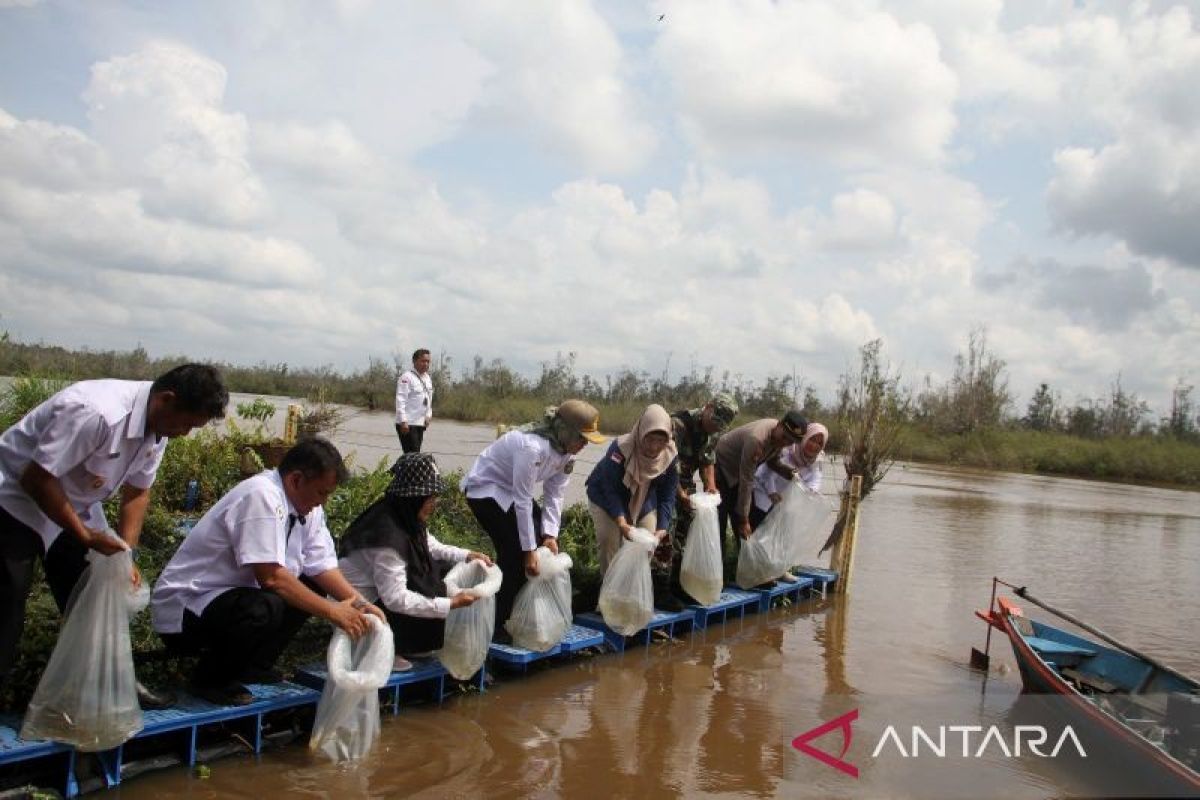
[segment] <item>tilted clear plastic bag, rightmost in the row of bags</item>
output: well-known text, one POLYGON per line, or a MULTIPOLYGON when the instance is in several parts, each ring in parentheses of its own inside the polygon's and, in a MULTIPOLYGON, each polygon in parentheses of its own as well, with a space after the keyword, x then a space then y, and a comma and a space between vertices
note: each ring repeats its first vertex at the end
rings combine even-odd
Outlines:
POLYGON ((798 560, 803 534, 829 512, 828 501, 800 483, 790 483, 782 495, 758 529, 742 542, 737 584, 743 589, 784 575, 798 560))

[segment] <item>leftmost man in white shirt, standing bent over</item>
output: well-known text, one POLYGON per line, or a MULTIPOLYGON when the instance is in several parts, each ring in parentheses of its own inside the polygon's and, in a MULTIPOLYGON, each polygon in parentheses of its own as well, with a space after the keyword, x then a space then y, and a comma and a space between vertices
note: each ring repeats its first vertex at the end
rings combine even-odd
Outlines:
MULTIPOLYGON (((228 402, 215 368, 185 363, 154 383, 72 384, 0 435, 0 682, 16 658, 35 563, 61 612, 88 551, 137 547, 167 440, 224 416, 228 402), (118 492, 114 539, 101 504, 118 492)), ((173 702, 142 684, 138 699, 146 709, 173 702)))

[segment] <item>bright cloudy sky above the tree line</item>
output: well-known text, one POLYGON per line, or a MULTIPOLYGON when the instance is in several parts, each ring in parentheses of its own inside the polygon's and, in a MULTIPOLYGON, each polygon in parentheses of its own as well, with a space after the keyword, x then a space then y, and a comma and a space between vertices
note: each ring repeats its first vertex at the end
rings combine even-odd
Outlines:
POLYGON ((0 329, 1200 381, 1200 4, 0 0, 0 329))

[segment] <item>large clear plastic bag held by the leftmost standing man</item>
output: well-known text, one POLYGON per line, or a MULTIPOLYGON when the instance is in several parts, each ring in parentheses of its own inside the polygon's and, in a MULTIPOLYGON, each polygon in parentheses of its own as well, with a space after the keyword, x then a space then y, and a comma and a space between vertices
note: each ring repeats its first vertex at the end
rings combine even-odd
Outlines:
POLYGON ((134 588, 130 551, 113 555, 90 551, 88 563, 25 710, 20 736, 98 751, 142 730, 130 619, 150 602, 150 587, 143 581, 134 588))

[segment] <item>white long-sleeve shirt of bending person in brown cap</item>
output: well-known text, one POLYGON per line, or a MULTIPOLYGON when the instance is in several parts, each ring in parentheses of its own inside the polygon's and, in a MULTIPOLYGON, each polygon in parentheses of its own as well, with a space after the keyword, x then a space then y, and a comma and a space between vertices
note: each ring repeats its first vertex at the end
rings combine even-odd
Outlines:
POLYGON ((462 491, 473 500, 491 498, 504 511, 516 506, 521 549, 538 549, 533 527, 533 493, 541 483, 541 533, 558 536, 563 495, 575 469, 575 456, 557 452, 535 433, 509 431, 479 453, 462 491))

